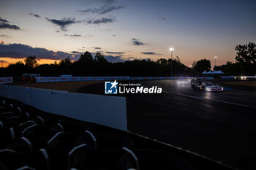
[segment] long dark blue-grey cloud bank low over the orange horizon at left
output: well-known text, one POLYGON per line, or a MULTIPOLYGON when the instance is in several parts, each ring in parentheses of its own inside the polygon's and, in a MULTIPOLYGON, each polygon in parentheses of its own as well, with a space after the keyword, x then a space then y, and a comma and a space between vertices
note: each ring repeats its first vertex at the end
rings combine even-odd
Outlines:
MULTIPOLYGON (((22 44, 0 45, 0 58, 26 58, 29 55, 35 55, 38 59, 59 60, 72 54, 22 44)), ((80 55, 75 55, 75 58, 79 57, 80 55)))

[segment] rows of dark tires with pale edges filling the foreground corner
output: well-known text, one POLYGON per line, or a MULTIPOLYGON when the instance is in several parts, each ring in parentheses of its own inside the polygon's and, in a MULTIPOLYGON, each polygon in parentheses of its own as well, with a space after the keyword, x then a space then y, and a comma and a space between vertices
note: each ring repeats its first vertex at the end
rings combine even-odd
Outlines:
POLYGON ((0 98, 0 169, 229 169, 136 134, 0 98))

